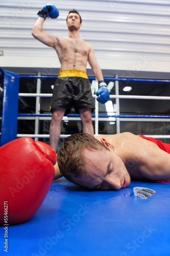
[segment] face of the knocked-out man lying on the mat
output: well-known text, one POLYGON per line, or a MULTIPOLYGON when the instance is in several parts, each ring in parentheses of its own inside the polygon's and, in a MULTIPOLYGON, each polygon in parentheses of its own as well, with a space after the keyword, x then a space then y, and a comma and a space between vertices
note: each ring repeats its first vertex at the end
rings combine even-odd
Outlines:
POLYGON ((83 178, 74 177, 76 184, 89 189, 120 189, 130 185, 130 175, 123 160, 114 150, 84 150, 86 174, 83 178))

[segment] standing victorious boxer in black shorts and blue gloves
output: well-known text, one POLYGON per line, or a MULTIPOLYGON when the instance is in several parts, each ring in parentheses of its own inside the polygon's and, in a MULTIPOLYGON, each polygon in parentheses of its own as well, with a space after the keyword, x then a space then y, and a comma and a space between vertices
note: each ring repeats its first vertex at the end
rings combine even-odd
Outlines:
POLYGON ((43 44, 53 47, 59 57, 61 68, 56 80, 51 102, 52 121, 50 125, 50 145, 57 151, 61 133, 61 121, 74 106, 83 124, 83 132, 94 135, 91 112, 94 109, 90 82, 86 74, 87 61, 99 81, 97 100, 106 103, 109 100, 107 85, 103 80, 101 68, 95 58, 93 47, 79 36, 82 19, 76 10, 69 11, 66 19, 68 36, 52 35, 43 32, 43 23, 47 16, 57 18, 59 12, 54 5, 46 5, 38 12, 38 19, 32 30, 32 35, 43 44))

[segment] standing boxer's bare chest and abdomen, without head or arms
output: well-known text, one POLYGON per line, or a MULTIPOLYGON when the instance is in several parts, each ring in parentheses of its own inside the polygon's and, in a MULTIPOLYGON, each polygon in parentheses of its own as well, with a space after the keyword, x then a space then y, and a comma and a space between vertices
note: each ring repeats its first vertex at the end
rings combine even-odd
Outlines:
POLYGON ((61 63, 60 70, 77 69, 86 72, 91 45, 80 37, 56 37, 58 44, 56 44, 55 50, 61 63))

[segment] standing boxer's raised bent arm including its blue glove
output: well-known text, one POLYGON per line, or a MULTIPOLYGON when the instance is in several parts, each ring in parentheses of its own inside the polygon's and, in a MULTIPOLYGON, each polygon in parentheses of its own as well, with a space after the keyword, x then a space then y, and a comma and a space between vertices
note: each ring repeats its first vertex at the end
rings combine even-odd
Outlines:
POLYGON ((45 18, 47 16, 57 18, 59 12, 54 5, 46 5, 41 11, 38 12, 38 15, 39 17, 34 24, 32 35, 39 41, 43 42, 43 44, 54 48, 57 44, 57 37, 42 30, 45 18))

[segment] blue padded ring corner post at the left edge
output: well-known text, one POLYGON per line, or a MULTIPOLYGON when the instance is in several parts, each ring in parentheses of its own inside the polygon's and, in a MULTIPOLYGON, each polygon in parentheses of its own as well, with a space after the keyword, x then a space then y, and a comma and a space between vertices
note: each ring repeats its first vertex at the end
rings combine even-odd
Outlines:
POLYGON ((4 71, 4 95, 0 146, 16 139, 18 116, 19 75, 4 71))

